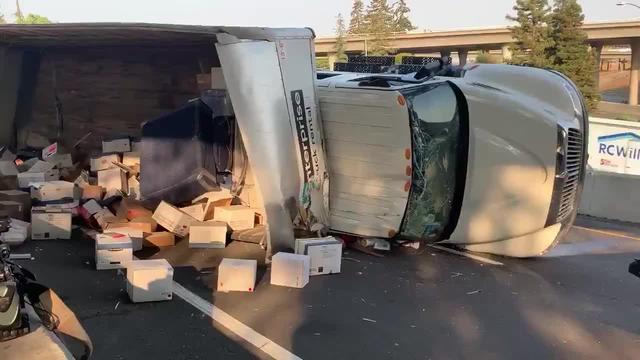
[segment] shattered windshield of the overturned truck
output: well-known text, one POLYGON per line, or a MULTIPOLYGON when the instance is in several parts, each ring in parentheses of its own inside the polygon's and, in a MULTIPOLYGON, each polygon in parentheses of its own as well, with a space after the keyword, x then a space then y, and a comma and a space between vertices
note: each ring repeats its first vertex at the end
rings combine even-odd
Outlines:
POLYGON ((457 222, 461 198, 455 195, 464 187, 459 171, 464 181, 468 139, 461 131, 461 111, 452 86, 428 84, 403 92, 413 146, 412 184, 400 230, 404 237, 441 240, 453 231, 450 223, 455 227, 457 222))

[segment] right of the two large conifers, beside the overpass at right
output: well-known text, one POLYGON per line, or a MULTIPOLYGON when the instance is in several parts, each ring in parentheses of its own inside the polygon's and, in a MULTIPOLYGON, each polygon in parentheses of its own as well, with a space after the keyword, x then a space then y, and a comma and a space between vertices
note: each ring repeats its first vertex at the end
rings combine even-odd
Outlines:
POLYGON ((550 28, 554 48, 550 55, 552 67, 568 76, 585 97, 590 108, 600 100, 596 89, 597 64, 582 29, 584 14, 576 0, 555 0, 550 28))

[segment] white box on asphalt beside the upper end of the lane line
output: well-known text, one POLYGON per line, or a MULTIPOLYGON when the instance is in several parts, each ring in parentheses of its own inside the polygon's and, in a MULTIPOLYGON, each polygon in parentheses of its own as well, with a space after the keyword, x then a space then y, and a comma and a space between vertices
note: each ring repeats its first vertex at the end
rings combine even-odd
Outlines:
POLYGON ((256 260, 222 259, 218 265, 218 291, 253 292, 257 270, 256 260))

